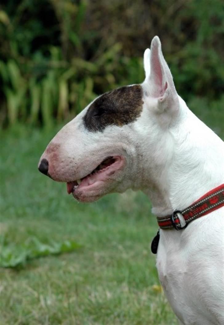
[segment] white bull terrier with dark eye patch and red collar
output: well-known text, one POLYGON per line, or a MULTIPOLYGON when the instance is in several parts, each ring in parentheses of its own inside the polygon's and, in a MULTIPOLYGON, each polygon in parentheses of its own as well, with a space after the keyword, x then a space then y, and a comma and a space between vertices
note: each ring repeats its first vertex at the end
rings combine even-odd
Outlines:
POLYGON ((159 242, 159 279, 180 323, 224 324, 224 214, 217 196, 224 193, 224 144, 178 96, 158 36, 144 68, 141 85, 101 95, 66 124, 39 170, 66 182, 82 202, 127 188, 146 193, 160 226, 168 225, 153 250, 159 242), (207 214, 185 218, 183 210, 209 191, 215 204, 207 214))

